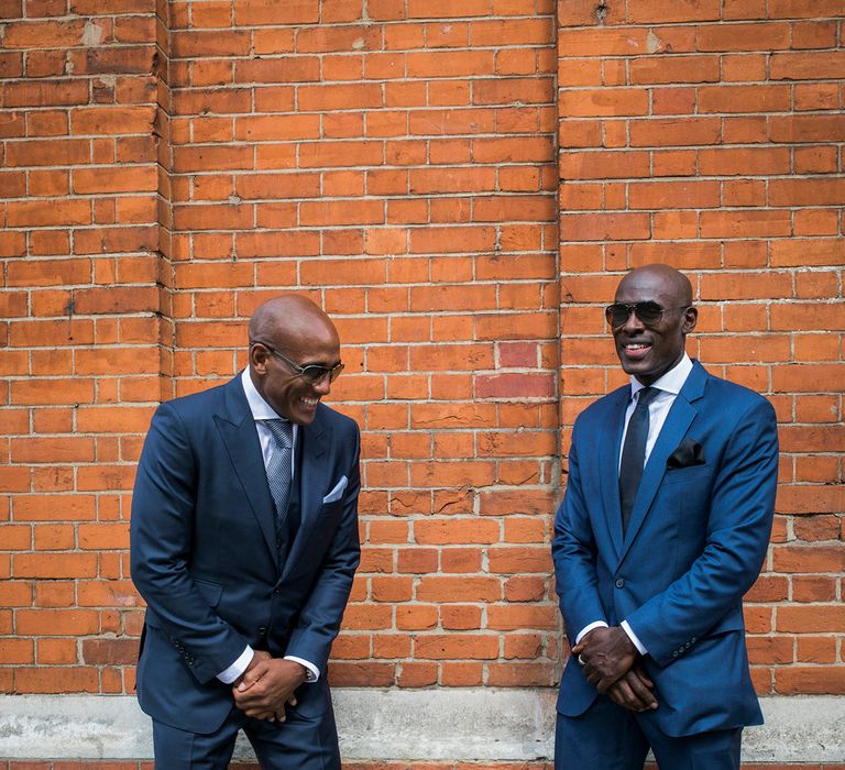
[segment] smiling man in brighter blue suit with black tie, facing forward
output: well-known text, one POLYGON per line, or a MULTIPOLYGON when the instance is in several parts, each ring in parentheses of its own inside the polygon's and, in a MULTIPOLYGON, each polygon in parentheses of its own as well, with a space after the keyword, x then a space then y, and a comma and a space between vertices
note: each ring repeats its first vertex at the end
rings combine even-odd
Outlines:
POLYGON ((630 384, 575 421, 552 554, 572 654, 557 770, 736 770, 762 722, 743 595, 766 556, 778 439, 761 396, 691 361, 690 282, 646 265, 606 309, 630 384))

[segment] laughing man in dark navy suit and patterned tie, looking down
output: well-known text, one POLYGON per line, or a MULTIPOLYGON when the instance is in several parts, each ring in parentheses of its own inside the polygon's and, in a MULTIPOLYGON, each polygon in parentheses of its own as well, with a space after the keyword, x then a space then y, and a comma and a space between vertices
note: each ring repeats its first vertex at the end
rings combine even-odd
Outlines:
POLYGON ((240 729, 264 768, 340 767, 326 666, 360 558, 358 426, 320 404, 340 341, 296 295, 249 336, 234 380, 158 407, 138 468, 138 695, 162 770, 227 768, 240 729))

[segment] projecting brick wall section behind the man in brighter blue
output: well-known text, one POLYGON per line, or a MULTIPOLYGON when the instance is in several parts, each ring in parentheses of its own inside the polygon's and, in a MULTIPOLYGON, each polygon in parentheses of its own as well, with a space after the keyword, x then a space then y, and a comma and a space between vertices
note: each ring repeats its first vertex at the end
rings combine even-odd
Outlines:
POLYGON ((558 19, 564 444, 624 382, 601 311, 621 275, 684 271, 690 354, 780 420, 772 547, 746 603, 757 689, 841 694, 842 4, 579 0, 558 19))

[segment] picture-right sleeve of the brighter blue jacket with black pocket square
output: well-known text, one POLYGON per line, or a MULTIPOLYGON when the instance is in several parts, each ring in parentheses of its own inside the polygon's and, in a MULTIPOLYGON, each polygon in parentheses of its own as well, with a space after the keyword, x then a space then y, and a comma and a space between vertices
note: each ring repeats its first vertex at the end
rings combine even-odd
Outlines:
POLYGON ((777 420, 771 405, 760 398, 738 417, 727 441, 701 554, 684 574, 626 617, 658 664, 673 662, 732 608, 742 606, 766 557, 777 473, 777 420))

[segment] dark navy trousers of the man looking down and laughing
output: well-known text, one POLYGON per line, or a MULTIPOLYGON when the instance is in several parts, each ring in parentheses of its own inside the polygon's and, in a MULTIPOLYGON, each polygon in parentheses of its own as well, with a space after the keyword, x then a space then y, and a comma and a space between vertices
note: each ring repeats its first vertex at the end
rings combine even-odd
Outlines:
POLYGON ((288 707, 285 722, 245 716, 234 706, 220 729, 202 735, 153 719, 156 770, 226 770, 243 729, 263 770, 340 770, 334 713, 304 716, 288 707))

